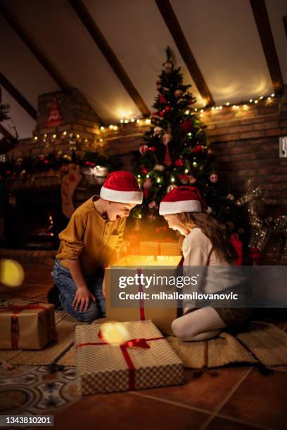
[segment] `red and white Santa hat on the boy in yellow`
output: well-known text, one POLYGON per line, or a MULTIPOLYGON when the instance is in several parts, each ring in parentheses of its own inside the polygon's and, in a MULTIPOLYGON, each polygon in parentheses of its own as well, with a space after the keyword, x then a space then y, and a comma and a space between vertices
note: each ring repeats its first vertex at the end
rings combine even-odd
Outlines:
POLYGON ((101 188, 100 196, 104 200, 119 203, 136 203, 143 201, 143 193, 134 175, 125 170, 108 174, 101 188))

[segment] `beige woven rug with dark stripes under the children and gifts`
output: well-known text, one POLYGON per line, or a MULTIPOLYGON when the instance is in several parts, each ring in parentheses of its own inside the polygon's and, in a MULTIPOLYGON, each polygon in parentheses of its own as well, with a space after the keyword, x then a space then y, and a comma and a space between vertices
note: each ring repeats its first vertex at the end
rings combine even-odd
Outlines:
MULTIPOLYGON (((104 319, 92 324, 103 323, 104 319)), ((56 312, 58 342, 41 351, 0 351, 0 361, 14 365, 75 366, 75 325, 79 322, 70 315, 56 312), (66 350, 66 351, 65 351, 66 350)), ((83 323, 84 324, 84 323, 83 323)), ((167 337, 185 367, 221 367, 231 363, 262 363, 265 366, 287 365, 287 334, 269 323, 253 322, 244 332, 222 332, 209 341, 183 342, 167 337)))

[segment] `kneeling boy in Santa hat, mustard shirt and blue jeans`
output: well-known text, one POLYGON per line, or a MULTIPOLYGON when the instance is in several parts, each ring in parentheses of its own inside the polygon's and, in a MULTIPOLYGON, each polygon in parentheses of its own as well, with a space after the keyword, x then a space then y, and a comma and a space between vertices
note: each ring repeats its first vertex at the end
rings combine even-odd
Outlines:
POLYGON ((100 196, 79 206, 59 234, 52 276, 58 287, 60 305, 79 321, 90 322, 106 314, 102 285, 105 266, 113 264, 122 244, 129 211, 141 204, 143 194, 129 171, 108 174, 100 196))

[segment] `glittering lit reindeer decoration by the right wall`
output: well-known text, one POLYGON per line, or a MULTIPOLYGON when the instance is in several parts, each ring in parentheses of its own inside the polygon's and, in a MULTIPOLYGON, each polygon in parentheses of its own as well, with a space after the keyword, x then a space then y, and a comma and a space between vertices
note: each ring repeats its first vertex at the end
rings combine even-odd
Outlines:
POLYGON ((248 216, 251 225, 251 237, 249 242, 250 249, 257 248, 262 252, 269 237, 272 233, 279 232, 285 239, 283 254, 281 257, 281 264, 287 263, 287 215, 267 216, 267 218, 260 218, 257 214, 258 200, 264 204, 277 204, 278 201, 269 199, 266 191, 261 187, 253 188, 253 182, 248 179, 246 181, 246 192, 238 200, 236 206, 248 205, 248 216))

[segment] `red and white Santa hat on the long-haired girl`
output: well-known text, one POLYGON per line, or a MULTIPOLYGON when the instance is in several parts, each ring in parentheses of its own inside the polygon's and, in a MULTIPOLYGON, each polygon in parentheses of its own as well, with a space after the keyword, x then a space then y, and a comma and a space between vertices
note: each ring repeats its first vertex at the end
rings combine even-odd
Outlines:
POLYGON ((198 188, 182 186, 174 188, 160 202, 160 215, 181 214, 182 212, 206 212, 208 205, 198 188))

